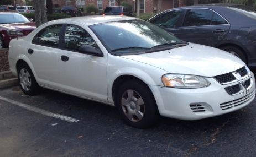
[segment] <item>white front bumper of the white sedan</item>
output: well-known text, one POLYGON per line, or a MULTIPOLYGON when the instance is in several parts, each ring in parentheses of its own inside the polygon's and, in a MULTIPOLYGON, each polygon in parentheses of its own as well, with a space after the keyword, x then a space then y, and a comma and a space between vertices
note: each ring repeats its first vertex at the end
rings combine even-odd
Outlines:
MULTIPOLYGON (((160 115, 180 120, 200 120, 223 115, 242 109, 255 98, 255 78, 251 73, 252 84, 244 92, 229 95, 224 89, 238 82, 222 85, 208 78, 211 85, 206 88, 178 89, 149 85, 154 94, 160 115)), ((250 79, 245 78, 245 80, 250 79)))

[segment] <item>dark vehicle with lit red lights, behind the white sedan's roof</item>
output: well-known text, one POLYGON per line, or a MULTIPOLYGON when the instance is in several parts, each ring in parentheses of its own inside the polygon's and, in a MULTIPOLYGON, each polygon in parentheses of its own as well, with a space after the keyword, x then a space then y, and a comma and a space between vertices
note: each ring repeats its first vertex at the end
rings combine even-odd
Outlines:
POLYGON ((103 12, 103 15, 121 15, 133 17, 133 12, 129 12, 123 6, 108 6, 103 12))

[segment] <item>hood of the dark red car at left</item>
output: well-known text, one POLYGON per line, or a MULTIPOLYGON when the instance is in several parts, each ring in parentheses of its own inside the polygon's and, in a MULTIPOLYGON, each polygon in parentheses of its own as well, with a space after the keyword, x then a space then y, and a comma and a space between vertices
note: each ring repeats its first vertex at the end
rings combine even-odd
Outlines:
POLYGON ((14 23, 14 24, 3 24, 1 25, 7 29, 13 29, 13 30, 34 30, 35 29, 35 23, 14 23))

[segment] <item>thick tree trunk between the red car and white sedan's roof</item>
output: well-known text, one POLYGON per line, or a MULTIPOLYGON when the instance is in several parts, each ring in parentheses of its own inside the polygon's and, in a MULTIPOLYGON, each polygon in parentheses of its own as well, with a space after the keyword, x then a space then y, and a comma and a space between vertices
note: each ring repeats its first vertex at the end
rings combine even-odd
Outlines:
POLYGON ((46 12, 45 12, 45 1, 34 0, 35 7, 35 26, 38 27, 41 24, 47 22, 46 12))

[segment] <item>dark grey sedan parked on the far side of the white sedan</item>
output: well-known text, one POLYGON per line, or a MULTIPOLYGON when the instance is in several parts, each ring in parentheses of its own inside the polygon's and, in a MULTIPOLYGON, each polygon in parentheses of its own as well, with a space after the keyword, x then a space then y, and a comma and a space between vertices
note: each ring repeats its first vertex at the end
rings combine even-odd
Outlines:
POLYGON ((256 67, 254 8, 238 4, 187 6, 165 10, 149 22, 182 40, 228 51, 256 67))

